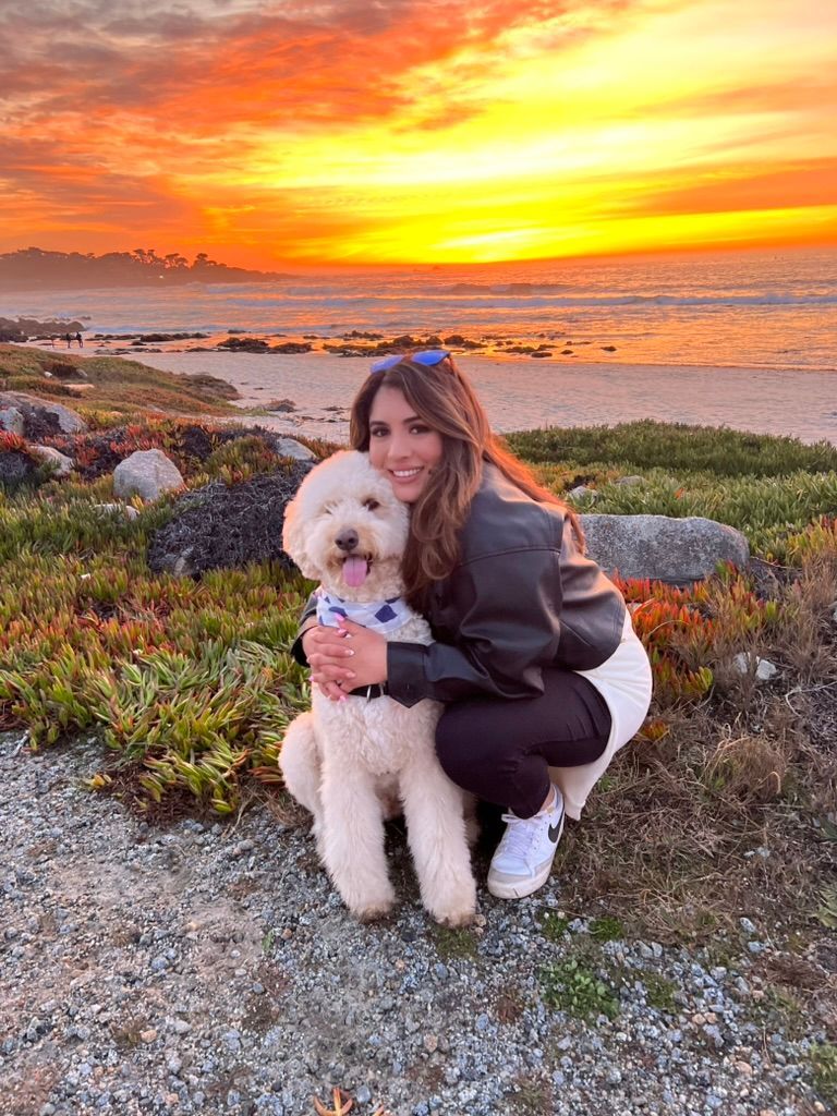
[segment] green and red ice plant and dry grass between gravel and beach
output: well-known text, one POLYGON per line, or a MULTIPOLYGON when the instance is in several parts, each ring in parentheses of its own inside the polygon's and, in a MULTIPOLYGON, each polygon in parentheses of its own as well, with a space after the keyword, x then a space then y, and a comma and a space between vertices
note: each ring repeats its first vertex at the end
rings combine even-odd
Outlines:
MULTIPOLYGON (((113 491, 96 446, 117 456, 164 448, 187 488, 289 463, 257 434, 213 437, 211 416, 227 404, 212 385, 194 391, 141 368, 85 362, 99 394, 74 404, 94 426, 78 435, 76 478, 0 492, 0 730, 27 732, 36 750, 96 737, 92 791, 157 822, 184 811, 234 816, 281 796, 282 734, 308 700, 289 647, 309 586, 276 562, 194 579, 153 573, 148 543, 176 497, 137 501, 135 519, 103 516, 96 506, 113 491), (203 410, 200 424, 189 420, 205 434, 203 450, 183 441, 184 420, 140 413, 146 374, 146 400, 203 410), (123 424, 122 441, 108 423, 123 424)), ((3 350, 0 388, 21 377, 33 391, 3 350)), ((691 587, 620 583, 655 699, 593 796, 584 840, 559 848, 566 912, 658 941, 735 934, 748 912, 801 950, 837 920, 835 451, 660 423, 509 442, 555 491, 584 483, 585 510, 710 514, 742 530, 759 556, 691 587), (639 481, 616 483, 626 475, 639 481), (772 681, 759 681, 762 660, 778 667, 772 681)), ((583 977, 578 995, 597 997, 583 977)))

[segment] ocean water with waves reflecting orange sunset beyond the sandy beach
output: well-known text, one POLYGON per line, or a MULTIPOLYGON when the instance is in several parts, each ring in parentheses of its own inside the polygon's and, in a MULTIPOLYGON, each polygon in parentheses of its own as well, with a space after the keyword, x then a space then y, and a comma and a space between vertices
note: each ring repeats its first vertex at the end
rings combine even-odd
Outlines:
POLYGON ((837 371, 837 250, 747 251, 299 275, 272 283, 27 291, 0 316, 90 333, 461 334, 555 358, 837 371), (564 349, 569 353, 561 355, 564 349))

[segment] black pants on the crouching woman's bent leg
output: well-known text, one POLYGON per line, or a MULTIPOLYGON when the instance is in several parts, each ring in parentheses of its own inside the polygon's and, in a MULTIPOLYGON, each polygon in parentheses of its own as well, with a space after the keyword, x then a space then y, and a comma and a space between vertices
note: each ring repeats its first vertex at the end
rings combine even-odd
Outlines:
POLYGON ((463 790, 537 814, 549 793, 549 767, 597 760, 610 734, 610 711, 591 682, 571 671, 543 672, 543 693, 521 701, 452 702, 436 729, 443 770, 463 790))

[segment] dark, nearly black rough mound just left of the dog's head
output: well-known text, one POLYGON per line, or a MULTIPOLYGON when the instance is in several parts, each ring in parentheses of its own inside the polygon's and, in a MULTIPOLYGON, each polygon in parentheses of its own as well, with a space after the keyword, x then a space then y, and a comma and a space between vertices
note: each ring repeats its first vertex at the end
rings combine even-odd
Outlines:
POLYGON ((187 492, 174 517, 148 543, 155 571, 198 575, 208 569, 235 569, 249 562, 294 564, 282 550, 285 508, 311 464, 294 461, 285 470, 238 484, 212 481, 187 492))

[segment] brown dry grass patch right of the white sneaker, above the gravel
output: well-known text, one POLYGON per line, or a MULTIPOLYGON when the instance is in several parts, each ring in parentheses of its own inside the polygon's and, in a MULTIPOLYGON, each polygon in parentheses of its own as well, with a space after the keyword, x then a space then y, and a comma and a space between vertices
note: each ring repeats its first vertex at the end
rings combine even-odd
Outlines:
MULTIPOLYGON (((737 932, 742 914, 777 941, 816 937, 819 892, 836 873, 834 845, 814 821, 837 819, 837 749, 835 722, 809 730, 812 703, 837 700, 837 686, 799 685, 790 665, 798 617, 806 626, 816 617, 820 643, 828 638, 830 590, 817 578, 797 585, 805 607, 788 612, 764 648, 781 662, 780 683, 731 674, 711 700, 670 714, 665 737, 617 757, 578 839, 559 854, 567 910, 607 910, 660 941, 737 932)), ((818 662, 834 675, 834 660, 818 662)))

